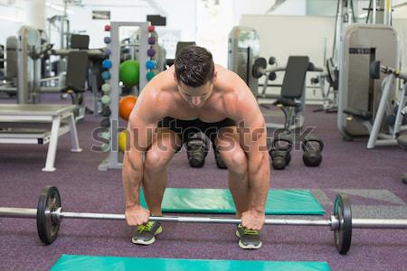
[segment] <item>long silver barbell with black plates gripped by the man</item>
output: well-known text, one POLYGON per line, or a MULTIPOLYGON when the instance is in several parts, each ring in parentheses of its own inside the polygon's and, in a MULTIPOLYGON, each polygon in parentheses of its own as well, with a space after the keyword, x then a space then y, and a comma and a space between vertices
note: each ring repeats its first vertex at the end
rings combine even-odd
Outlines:
MULTIPOLYGON (((45 186, 40 194, 37 209, 0 207, 0 217, 36 219, 37 231, 44 244, 50 245, 58 237, 62 219, 126 220, 124 214, 62 211, 60 192, 55 186, 45 186)), ((150 217, 152 221, 185 223, 240 224, 239 219, 212 217, 150 217)), ((346 194, 337 194, 334 214, 330 219, 270 219, 265 225, 325 226, 334 231, 335 246, 340 254, 349 251, 352 229, 407 229, 407 220, 352 219, 352 209, 346 194)))

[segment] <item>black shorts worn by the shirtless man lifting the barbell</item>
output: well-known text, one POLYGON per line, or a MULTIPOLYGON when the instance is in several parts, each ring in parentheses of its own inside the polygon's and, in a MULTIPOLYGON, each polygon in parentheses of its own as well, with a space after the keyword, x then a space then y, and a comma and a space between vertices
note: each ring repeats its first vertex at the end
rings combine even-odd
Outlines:
POLYGON ((199 118, 193 120, 181 120, 173 117, 165 117, 158 122, 158 127, 166 127, 171 131, 174 131, 178 135, 184 145, 191 136, 196 133, 203 132, 211 139, 214 144, 214 140, 218 132, 223 127, 236 126, 234 121, 230 118, 225 118, 218 122, 204 122, 199 118))

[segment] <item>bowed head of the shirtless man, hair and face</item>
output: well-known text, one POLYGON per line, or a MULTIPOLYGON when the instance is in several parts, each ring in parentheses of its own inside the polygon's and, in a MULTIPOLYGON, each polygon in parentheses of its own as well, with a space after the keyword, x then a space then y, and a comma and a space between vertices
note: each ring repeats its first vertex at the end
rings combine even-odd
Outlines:
POLYGON ((186 102, 191 107, 202 107, 216 79, 212 53, 199 46, 185 47, 175 58, 175 79, 186 102))

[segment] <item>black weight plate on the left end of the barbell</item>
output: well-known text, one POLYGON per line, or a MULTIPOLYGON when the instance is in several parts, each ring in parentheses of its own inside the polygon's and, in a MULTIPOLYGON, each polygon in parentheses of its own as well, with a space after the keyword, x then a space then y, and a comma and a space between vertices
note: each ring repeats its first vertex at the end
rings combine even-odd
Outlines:
POLYGON ((58 237, 60 221, 52 220, 51 212, 61 207, 60 192, 54 186, 45 186, 37 206, 38 236, 44 244, 50 245, 58 237))

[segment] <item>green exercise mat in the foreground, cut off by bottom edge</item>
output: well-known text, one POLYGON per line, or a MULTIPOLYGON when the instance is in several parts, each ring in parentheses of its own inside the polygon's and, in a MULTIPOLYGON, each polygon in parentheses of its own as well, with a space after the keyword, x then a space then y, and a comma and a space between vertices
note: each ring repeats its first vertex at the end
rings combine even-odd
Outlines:
POLYGON ((289 261, 242 261, 242 260, 203 260, 178 258, 137 258, 62 255, 52 266, 52 271, 219 271, 219 270, 331 270, 327 262, 289 261))

